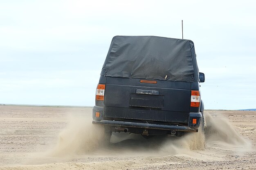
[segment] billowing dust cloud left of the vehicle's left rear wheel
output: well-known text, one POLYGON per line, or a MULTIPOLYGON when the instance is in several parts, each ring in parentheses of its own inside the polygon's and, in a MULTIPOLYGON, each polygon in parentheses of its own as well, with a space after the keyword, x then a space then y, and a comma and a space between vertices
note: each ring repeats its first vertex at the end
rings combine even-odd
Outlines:
POLYGON ((90 153, 102 144, 103 134, 103 127, 93 125, 91 117, 71 117, 67 127, 59 134, 57 145, 49 155, 65 157, 90 153))

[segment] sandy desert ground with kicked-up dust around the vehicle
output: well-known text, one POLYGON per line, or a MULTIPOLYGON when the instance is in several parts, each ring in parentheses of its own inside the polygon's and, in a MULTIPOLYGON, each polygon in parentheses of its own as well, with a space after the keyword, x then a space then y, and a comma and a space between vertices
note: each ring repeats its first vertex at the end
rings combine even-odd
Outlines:
POLYGON ((206 132, 113 133, 103 147, 92 108, 0 106, 1 170, 256 169, 256 112, 207 110, 206 132))

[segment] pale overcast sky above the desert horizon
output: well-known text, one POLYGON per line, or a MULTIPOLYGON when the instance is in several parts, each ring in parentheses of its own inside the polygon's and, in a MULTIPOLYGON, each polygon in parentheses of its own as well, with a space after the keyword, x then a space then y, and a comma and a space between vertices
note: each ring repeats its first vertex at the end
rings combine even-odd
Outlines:
POLYGON ((93 106, 112 37, 195 44, 206 109, 256 108, 252 1, 0 1, 0 104, 93 106))

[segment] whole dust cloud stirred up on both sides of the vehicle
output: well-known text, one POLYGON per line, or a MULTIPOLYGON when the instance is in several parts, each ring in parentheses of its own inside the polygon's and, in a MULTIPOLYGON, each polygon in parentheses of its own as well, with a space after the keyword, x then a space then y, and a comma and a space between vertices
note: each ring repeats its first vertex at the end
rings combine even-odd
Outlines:
MULTIPOLYGON (((171 135, 155 136, 144 139, 141 135, 113 132, 110 146, 102 146, 103 127, 93 125, 90 117, 72 118, 67 128, 60 134, 56 147, 50 152, 53 157, 70 155, 100 156, 193 156, 204 150, 229 150, 230 152, 247 152, 251 144, 243 138, 229 120, 222 116, 205 113, 205 128, 199 132, 187 132, 182 137, 171 135)), ((214 154, 214 153, 211 153, 214 154)), ((208 154, 209 155, 209 154, 208 154)), ((201 155, 202 156, 202 155, 201 155)))

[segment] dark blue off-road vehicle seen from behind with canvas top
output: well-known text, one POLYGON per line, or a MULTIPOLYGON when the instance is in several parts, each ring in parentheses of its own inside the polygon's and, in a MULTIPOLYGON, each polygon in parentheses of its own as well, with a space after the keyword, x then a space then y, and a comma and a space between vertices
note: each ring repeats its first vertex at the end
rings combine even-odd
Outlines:
POLYGON ((116 36, 101 71, 92 123, 104 125, 108 134, 198 132, 199 82, 192 41, 116 36))

